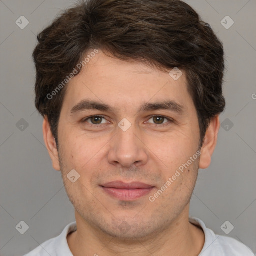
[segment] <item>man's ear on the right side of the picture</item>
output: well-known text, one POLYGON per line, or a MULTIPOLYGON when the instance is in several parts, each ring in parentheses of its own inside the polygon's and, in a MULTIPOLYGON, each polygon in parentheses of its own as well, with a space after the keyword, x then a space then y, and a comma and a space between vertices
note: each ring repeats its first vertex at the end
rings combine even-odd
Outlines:
POLYGON ((219 115, 216 115, 210 119, 209 126, 206 130, 204 141, 201 147, 201 155, 199 161, 199 168, 206 169, 211 162, 211 155, 214 152, 217 144, 217 136, 219 131, 219 115))

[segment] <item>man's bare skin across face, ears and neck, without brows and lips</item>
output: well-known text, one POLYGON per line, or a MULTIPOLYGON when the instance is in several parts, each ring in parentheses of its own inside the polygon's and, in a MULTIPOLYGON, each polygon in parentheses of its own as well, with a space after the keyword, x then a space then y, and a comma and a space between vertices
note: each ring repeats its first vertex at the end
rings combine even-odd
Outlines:
POLYGON ((188 221, 189 201, 198 168, 210 164, 218 130, 219 118, 215 116, 200 157, 151 202, 149 196, 198 151, 198 118, 185 73, 175 81, 168 72, 99 51, 67 85, 58 124, 58 149, 47 118, 43 121, 53 167, 61 170, 75 208, 77 231, 67 236, 73 255, 198 255, 204 233, 188 221), (84 99, 108 104, 113 111, 71 113, 84 99), (164 100, 181 105, 182 113, 139 111, 143 103, 164 100), (95 118, 85 120, 91 115, 103 116, 101 124, 94 124, 98 121, 95 118), (160 118, 157 122, 152 115, 172 121, 160 118), (123 118, 131 124, 127 131, 118 127, 123 118), (72 169, 80 175, 74 183, 66 176, 72 169), (109 196, 100 186, 114 180, 140 181, 154 188, 148 195, 123 201, 109 196), (121 230, 120 224, 128 231, 121 230))

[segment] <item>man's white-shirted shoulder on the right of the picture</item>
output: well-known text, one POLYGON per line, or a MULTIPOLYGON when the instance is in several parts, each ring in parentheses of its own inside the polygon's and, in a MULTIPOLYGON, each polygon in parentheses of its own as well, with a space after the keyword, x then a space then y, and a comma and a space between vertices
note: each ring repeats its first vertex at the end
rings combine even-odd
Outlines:
POLYGON ((202 220, 189 217, 189 222, 199 226, 204 232, 204 246, 199 256, 254 256, 246 245, 234 238, 215 234, 202 220))

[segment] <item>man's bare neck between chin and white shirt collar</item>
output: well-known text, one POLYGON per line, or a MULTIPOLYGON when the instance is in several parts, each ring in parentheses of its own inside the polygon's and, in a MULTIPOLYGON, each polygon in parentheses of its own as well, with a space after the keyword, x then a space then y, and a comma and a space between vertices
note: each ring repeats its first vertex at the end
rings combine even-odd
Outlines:
POLYGON ((119 239, 96 229, 77 212, 75 218, 77 231, 67 236, 69 248, 74 256, 197 256, 204 244, 203 231, 189 223, 188 213, 179 215, 171 224, 166 224, 164 230, 155 232, 150 237, 134 237, 129 240, 119 239))

